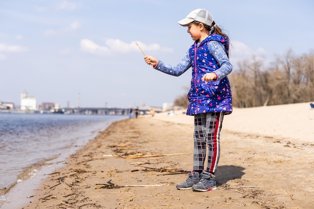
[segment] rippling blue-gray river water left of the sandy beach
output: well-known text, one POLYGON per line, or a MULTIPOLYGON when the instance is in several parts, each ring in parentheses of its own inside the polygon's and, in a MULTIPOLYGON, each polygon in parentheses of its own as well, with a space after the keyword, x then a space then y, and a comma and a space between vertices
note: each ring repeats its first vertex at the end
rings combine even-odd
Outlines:
POLYGON ((0 114, 0 207, 16 184, 36 178, 93 139, 112 122, 113 115, 0 114))

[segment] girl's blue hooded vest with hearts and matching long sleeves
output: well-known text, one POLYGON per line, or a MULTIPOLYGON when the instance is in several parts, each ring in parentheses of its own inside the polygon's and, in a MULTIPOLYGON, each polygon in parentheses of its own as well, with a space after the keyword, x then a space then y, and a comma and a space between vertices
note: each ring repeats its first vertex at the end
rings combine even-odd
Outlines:
POLYGON ((192 67, 187 115, 232 112, 232 95, 227 77, 232 71, 232 65, 226 54, 228 50, 228 38, 212 34, 199 44, 195 42, 177 66, 159 61, 154 67, 173 76, 180 76, 192 67), (217 80, 201 80, 206 73, 212 72, 217 75, 217 80))

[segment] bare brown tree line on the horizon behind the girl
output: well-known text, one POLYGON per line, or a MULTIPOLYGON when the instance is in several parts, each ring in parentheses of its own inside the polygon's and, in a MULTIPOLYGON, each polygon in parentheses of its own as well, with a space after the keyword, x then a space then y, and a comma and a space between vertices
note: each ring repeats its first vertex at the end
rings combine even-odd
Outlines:
MULTIPOLYGON (((314 52, 295 56, 288 50, 267 66, 263 59, 252 56, 240 61, 228 78, 234 107, 314 101, 314 52)), ((174 101, 175 106, 187 104, 186 94, 174 101)))

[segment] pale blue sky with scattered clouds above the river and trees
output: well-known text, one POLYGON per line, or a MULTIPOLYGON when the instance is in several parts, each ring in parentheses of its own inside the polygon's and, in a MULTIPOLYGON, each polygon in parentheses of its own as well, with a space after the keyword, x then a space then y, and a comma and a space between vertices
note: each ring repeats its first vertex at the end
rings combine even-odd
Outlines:
POLYGON ((314 2, 301 1, 0 0, 0 101, 66 107, 162 106, 187 92, 191 71, 155 71, 146 55, 176 65, 193 44, 178 24, 210 11, 231 40, 231 62, 253 55, 269 63, 291 49, 314 49, 314 2))

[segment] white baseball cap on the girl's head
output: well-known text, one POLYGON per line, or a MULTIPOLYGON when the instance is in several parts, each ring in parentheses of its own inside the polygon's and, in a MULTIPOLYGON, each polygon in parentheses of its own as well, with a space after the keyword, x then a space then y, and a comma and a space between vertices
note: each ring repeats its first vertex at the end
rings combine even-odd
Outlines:
POLYGON ((181 26, 187 26, 189 23, 192 23, 193 21, 198 21, 207 26, 212 26, 214 18, 212 14, 210 14, 207 10, 197 9, 193 10, 185 19, 179 21, 178 23, 181 26))

